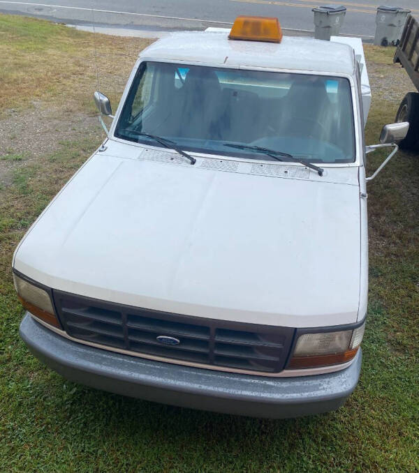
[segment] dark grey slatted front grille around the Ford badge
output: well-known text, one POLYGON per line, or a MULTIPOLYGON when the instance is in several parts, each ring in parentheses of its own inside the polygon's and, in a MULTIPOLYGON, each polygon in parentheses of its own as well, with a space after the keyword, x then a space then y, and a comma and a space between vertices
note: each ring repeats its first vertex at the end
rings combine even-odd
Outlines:
POLYGON ((284 369, 295 329, 122 306, 54 291, 69 336, 129 352, 239 370, 284 369), (157 337, 177 340, 163 345, 157 337))

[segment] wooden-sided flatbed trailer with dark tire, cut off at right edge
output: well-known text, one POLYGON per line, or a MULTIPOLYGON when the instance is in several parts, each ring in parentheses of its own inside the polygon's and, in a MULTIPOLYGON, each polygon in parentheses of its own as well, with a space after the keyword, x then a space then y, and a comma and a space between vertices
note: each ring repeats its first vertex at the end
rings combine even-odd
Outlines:
MULTIPOLYGON (((404 25, 402 39, 393 59, 400 63, 419 92, 419 22, 409 15, 404 25)), ((419 93, 406 93, 397 111, 396 121, 409 121, 410 129, 400 142, 402 149, 419 151, 419 93)))

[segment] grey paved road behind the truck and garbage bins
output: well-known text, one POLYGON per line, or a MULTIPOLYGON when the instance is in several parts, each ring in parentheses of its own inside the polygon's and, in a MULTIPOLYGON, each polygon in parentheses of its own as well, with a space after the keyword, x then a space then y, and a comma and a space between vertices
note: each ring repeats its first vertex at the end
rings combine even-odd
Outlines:
MULTIPOLYGON (((0 11, 52 18, 67 23, 91 23, 142 29, 203 29, 228 26, 237 15, 277 16, 287 29, 313 29, 311 8, 339 3, 347 8, 341 33, 374 36, 376 7, 380 0, 27 0, 1 1, 0 11), (71 8, 62 8, 71 7, 71 8), (96 11, 92 14, 90 8, 96 11), (80 9, 79 9, 80 8, 80 9), (97 11, 102 10, 102 11, 97 11), (116 12, 129 12, 123 15, 116 12), (225 23, 224 23, 225 22, 225 23)), ((383 0, 410 8, 419 15, 418 0, 383 0)))

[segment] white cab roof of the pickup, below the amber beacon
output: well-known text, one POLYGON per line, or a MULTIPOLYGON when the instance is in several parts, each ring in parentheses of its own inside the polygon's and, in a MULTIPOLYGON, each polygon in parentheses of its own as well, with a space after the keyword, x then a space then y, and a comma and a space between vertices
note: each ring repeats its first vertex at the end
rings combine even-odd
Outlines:
POLYGON ((147 47, 140 57, 347 75, 355 71, 349 45, 295 36, 284 36, 281 43, 229 40, 228 31, 172 33, 147 47))

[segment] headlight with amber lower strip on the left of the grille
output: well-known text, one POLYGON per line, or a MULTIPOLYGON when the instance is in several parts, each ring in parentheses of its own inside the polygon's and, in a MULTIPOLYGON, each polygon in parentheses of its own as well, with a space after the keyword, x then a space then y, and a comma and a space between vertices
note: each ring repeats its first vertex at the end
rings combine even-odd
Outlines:
POLYGON ((47 322, 47 324, 61 328, 61 324, 55 315, 51 296, 47 291, 17 276, 15 273, 13 273, 13 281, 17 296, 25 309, 44 322, 47 322))

